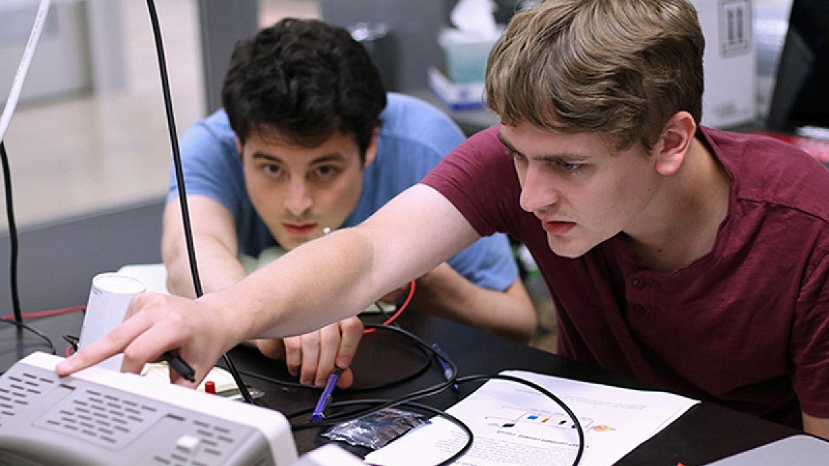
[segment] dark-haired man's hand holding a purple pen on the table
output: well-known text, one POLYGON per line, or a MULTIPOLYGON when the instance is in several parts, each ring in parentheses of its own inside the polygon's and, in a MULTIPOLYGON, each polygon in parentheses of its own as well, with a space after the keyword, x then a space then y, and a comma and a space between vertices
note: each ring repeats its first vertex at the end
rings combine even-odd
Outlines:
POLYGON ((325 386, 334 366, 346 368, 337 386, 348 388, 354 374, 348 367, 362 337, 359 318, 347 318, 327 325, 316 332, 284 340, 255 340, 256 347, 267 357, 285 357, 288 372, 303 384, 325 386))

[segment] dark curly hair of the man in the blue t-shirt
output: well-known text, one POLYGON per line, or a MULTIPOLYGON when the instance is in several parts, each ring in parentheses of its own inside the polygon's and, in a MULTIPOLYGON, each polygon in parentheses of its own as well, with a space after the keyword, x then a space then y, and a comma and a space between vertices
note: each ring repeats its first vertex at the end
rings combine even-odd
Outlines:
POLYGON ((361 157, 386 103, 379 71, 347 30, 295 18, 236 44, 221 99, 243 144, 255 132, 316 147, 339 131, 354 134, 361 157))

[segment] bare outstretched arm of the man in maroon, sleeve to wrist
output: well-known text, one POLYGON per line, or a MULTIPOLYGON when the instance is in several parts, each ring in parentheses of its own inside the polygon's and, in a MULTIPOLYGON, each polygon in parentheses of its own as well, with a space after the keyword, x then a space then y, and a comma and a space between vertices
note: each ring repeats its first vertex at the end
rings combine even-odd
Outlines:
POLYGON ((450 202, 416 185, 360 226, 309 241, 210 301, 234 309, 243 339, 301 335, 360 313, 478 238, 450 202))

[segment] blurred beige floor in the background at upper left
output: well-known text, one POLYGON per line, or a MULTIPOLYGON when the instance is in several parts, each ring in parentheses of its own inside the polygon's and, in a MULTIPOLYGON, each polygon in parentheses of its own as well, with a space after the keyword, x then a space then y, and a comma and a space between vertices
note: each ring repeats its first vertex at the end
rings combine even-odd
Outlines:
MULTIPOLYGON (((171 145, 146 2, 120 1, 126 89, 22 102, 12 118, 6 148, 20 228, 162 197, 166 191, 171 145)), ((316 0, 260 2, 262 24, 284 16, 318 17, 316 0)), ((181 133, 203 116, 195 2, 163 0, 157 8, 181 133)), ((17 63, 2 66, 16 68, 17 63)), ((2 215, 0 231, 6 230, 2 215)))

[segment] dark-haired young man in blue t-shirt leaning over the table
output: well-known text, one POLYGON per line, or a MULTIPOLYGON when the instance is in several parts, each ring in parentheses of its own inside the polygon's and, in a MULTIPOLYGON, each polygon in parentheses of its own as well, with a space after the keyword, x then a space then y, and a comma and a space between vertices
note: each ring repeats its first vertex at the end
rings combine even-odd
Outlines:
MULTIPOLYGON (((429 104, 386 95, 363 46, 315 20, 284 19, 240 41, 222 103, 181 143, 206 292, 235 284, 284 250, 357 225, 463 141, 457 125, 429 104)), ((193 296, 177 196, 173 179, 162 237, 167 288, 193 296)), ((419 308, 521 342, 535 329, 505 235, 483 238, 419 277, 414 296, 419 308)), ((284 342, 255 343, 269 356, 284 355, 300 381, 322 385, 336 356, 323 342, 340 341, 348 348, 342 356, 354 351, 360 331, 350 318, 284 342)), ((347 372, 342 385, 350 380, 347 372)))

